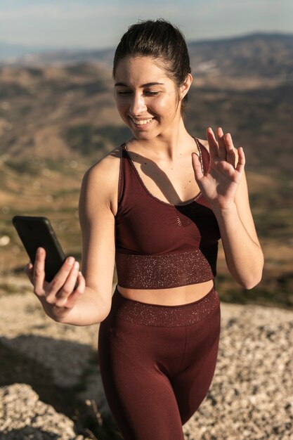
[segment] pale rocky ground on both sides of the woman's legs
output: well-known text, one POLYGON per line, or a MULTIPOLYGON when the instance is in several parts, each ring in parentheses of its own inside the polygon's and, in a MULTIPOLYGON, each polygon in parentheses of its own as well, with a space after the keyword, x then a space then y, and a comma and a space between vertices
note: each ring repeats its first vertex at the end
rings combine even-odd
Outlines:
MULTIPOLYGON (((0 292, 0 440, 119 439, 98 374, 98 327, 54 323, 28 288, 20 280, 0 292)), ((185 439, 293 439, 293 312, 221 310, 214 381, 185 439)))

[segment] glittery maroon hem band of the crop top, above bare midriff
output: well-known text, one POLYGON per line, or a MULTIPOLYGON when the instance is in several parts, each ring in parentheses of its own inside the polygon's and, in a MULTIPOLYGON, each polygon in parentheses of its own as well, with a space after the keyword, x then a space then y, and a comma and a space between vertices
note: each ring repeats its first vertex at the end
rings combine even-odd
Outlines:
POLYGON ((116 252, 116 268, 118 284, 131 289, 167 289, 214 278, 200 250, 159 255, 116 252))

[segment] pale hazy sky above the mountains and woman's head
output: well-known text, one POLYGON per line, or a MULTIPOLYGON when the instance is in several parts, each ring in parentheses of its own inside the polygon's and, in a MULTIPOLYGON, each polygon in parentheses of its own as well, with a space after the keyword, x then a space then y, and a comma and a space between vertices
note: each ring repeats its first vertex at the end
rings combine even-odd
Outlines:
POLYGON ((133 22, 160 17, 188 40, 293 33, 293 0, 0 0, 0 41, 109 47, 133 22))

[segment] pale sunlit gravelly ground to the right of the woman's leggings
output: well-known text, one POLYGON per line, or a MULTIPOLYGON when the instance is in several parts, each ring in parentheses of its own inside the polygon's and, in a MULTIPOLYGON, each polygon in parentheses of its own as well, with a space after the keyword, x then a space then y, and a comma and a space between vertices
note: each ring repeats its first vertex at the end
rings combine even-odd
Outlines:
POLYGON ((222 304, 221 342, 190 440, 293 439, 293 313, 222 304))

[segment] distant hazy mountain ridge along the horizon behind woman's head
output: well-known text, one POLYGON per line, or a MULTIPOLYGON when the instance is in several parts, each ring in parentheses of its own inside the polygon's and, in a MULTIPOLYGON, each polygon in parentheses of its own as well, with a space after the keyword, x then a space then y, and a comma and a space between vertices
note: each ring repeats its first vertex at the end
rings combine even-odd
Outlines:
MULTIPOLYGON (((227 75, 293 75, 293 34, 255 33, 243 37, 191 41, 195 72, 227 75)), ((32 65, 100 62, 112 65, 114 48, 100 50, 46 50, 0 43, 0 63, 32 65)))

